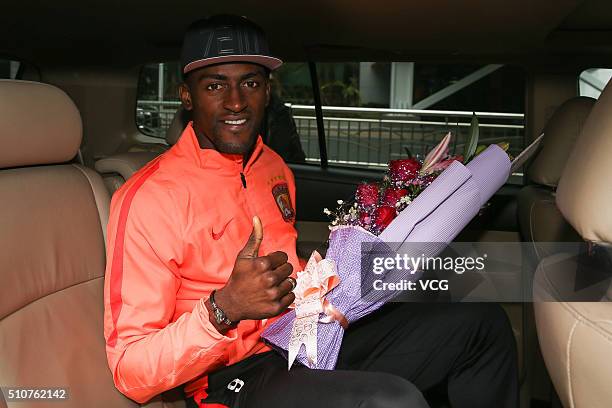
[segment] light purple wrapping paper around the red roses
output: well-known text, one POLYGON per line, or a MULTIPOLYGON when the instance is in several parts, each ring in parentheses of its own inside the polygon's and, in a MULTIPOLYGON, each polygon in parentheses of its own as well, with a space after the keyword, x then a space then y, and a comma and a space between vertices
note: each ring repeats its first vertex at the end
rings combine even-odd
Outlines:
MULTIPOLYGON (((510 160, 497 145, 489 146, 466 166, 453 162, 421 194, 402 211, 391 224, 375 236, 360 227, 339 227, 330 234, 326 258, 336 263, 340 285, 326 298, 353 323, 380 308, 395 297, 390 291, 362 293, 372 288, 361 282, 362 243, 370 243, 376 256, 387 253, 394 256, 402 243, 420 243, 418 251, 411 245, 415 256, 436 256, 474 218, 491 196, 505 183, 510 172, 510 160)), ((406 246, 407 247, 407 246, 406 246)), ((406 251, 404 251, 405 253, 406 251)), ((367 258, 363 261, 368 262, 367 258)), ((371 277, 365 275, 366 279, 371 277)), ((420 272, 390 270, 385 281, 417 280, 420 272)), ((372 277, 373 279, 373 277, 372 277)), ((372 292, 375 292, 372 289, 372 292)), ((290 311, 270 324, 262 333, 264 340, 287 357, 287 348, 295 312, 290 311)), ((336 366, 344 329, 337 323, 318 323, 318 369, 331 370, 336 366)), ((297 360, 308 366, 304 346, 297 360)))

